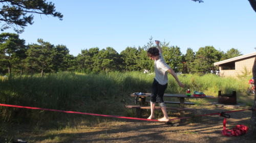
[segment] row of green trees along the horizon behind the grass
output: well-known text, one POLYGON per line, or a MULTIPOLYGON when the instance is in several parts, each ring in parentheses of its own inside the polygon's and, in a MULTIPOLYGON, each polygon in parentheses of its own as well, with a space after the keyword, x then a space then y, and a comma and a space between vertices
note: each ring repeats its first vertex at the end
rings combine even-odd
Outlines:
MULTIPOLYGON (((154 46, 150 41, 142 47, 126 47, 118 53, 112 47, 99 49, 93 47, 83 49, 74 56, 65 45, 53 45, 38 39, 37 43, 26 45, 18 34, 0 34, 0 73, 52 73, 58 71, 77 71, 99 73, 110 71, 154 71, 154 63, 147 57, 147 49, 154 46)), ((217 50, 213 46, 205 46, 193 51, 187 48, 183 54, 178 46, 170 46, 162 42, 163 56, 166 63, 175 72, 209 73, 218 67, 215 62, 242 55, 238 49, 231 48, 227 52, 217 50)))

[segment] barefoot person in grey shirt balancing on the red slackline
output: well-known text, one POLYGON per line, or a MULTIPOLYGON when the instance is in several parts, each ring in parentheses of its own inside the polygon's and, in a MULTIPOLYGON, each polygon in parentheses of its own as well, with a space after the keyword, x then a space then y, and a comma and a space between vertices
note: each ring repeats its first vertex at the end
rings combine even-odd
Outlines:
POLYGON ((159 103, 159 106, 161 107, 161 110, 163 112, 163 118, 159 119, 158 121, 167 122, 169 121, 166 106, 163 101, 163 95, 167 88, 167 82, 168 72, 172 74, 172 76, 175 78, 177 83, 180 87, 184 88, 185 85, 179 80, 176 73, 173 69, 171 69, 164 61, 163 55, 162 55, 162 48, 159 46, 160 41, 155 41, 157 47, 151 47, 147 50, 147 56, 150 57, 151 60, 154 60, 155 65, 155 78, 152 84, 152 94, 150 99, 150 105, 151 105, 151 115, 147 119, 154 119, 154 112, 155 112, 155 105, 156 102, 159 103), (168 71, 168 72, 167 72, 168 71))

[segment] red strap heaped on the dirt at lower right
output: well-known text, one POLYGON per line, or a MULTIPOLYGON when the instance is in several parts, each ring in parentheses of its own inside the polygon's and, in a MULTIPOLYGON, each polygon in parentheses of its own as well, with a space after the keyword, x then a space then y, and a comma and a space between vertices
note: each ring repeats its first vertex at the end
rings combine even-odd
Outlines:
POLYGON ((223 130, 221 133, 225 136, 239 136, 248 132, 248 127, 245 125, 237 125, 232 130, 226 129, 226 118, 223 121, 223 130))

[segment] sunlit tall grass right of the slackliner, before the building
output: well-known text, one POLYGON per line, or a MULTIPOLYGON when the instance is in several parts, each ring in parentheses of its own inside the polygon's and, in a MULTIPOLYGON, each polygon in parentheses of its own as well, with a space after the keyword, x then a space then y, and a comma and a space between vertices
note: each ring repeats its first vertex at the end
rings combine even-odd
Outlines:
MULTIPOLYGON (((170 78, 170 77, 169 77, 170 78)), ((232 93, 232 91, 237 91, 240 95, 246 94, 248 80, 251 77, 246 78, 236 78, 236 77, 220 77, 214 74, 205 74, 205 75, 195 75, 187 74, 185 76, 180 76, 180 80, 186 85, 187 89, 191 91, 200 91, 204 92, 207 95, 217 96, 218 91, 222 93, 232 93)), ((174 78, 170 78, 172 83, 175 82, 174 78)), ((181 90, 176 84, 177 90, 180 92, 185 92, 181 90)), ((169 87, 172 88, 172 87, 169 87)), ((175 91, 175 92, 178 92, 175 91)))

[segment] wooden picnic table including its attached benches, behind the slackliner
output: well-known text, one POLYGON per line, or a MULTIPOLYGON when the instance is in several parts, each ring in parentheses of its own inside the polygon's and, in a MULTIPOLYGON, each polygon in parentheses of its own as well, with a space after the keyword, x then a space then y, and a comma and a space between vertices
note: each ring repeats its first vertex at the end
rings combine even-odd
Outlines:
MULTIPOLYGON (((136 108, 136 117, 140 118, 141 117, 141 110, 142 109, 150 109, 150 106, 146 106, 148 102, 146 101, 146 97, 150 97, 151 93, 145 93, 142 95, 137 95, 137 94, 130 94, 129 96, 134 97, 135 101, 138 101, 137 98, 139 98, 139 105, 126 105, 126 108, 136 108)), ((184 94, 164 94, 164 97, 176 97, 180 99, 180 102, 170 102, 170 101, 165 101, 165 103, 168 104, 180 104, 180 107, 166 107, 166 110, 179 110, 180 111, 180 117, 185 117, 185 111, 191 111, 195 110, 195 108, 185 108, 185 104, 188 105, 195 105, 193 102, 185 102, 185 98, 207 98, 207 99, 212 99, 212 98, 217 98, 214 96, 187 96, 184 94)), ((155 109, 161 109, 159 106, 156 106, 155 109)), ((181 122, 185 122, 185 119, 181 119, 181 122)))

